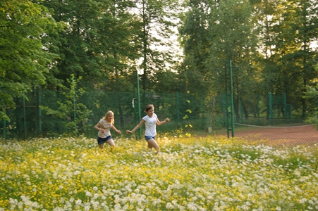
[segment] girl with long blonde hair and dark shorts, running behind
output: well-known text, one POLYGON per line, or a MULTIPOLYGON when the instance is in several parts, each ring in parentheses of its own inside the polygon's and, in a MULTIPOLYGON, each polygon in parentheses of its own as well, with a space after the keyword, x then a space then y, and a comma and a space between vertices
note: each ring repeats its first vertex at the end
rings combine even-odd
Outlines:
POLYGON ((114 147, 115 143, 111 137, 111 128, 114 129, 118 134, 121 134, 121 131, 116 129, 114 126, 114 113, 109 110, 106 115, 100 120, 95 126, 94 129, 99 130, 97 143, 99 148, 104 148, 104 143, 108 143, 109 146, 114 147))

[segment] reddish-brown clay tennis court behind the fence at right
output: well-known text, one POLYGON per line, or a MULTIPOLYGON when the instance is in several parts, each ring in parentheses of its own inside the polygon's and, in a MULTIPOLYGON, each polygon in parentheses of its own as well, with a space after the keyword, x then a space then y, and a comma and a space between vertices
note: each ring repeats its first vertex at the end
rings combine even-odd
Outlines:
POLYGON ((264 139, 271 143, 309 144, 318 143, 318 131, 313 125, 292 127, 242 127, 234 131, 235 137, 244 139, 264 139))

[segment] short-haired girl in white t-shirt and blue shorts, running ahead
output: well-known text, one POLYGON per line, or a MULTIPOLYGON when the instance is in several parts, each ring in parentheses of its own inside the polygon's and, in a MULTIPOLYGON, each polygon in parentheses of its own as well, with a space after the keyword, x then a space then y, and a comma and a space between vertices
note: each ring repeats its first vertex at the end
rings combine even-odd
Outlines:
POLYGON ((156 124, 161 125, 161 124, 164 124, 166 122, 169 122, 169 118, 166 118, 164 121, 160 122, 158 120, 157 115, 154 113, 154 105, 152 105, 152 104, 148 104, 146 106, 145 113, 147 113, 147 115, 142 118, 140 123, 137 124, 137 126, 131 131, 130 130, 126 130, 126 133, 132 134, 138 128, 140 128, 142 126, 142 124, 145 123, 145 127, 146 127, 145 139, 148 142, 148 148, 149 149, 155 148, 157 153, 159 153, 160 148, 159 148, 159 146, 158 146, 158 144, 157 144, 157 142, 155 140, 156 139, 156 135, 157 135, 156 124))

